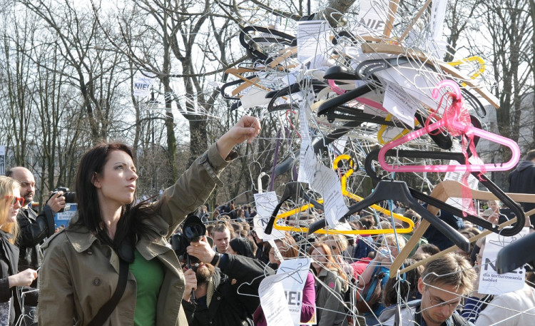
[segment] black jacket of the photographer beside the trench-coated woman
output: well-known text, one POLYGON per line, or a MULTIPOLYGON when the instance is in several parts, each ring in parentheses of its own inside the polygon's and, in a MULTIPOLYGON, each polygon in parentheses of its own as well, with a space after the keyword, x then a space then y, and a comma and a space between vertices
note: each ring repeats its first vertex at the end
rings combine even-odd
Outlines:
POLYGON ((205 297, 195 302, 182 301, 188 325, 253 326, 253 312, 260 305, 258 286, 272 269, 258 260, 231 254, 222 255, 219 267, 221 272, 215 271, 213 287, 208 286, 205 297))

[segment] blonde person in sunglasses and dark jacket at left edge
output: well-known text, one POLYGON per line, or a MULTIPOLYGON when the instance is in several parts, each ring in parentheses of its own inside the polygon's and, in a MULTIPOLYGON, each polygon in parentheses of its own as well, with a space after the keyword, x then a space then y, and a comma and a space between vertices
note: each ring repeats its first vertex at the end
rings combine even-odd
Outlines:
MULTIPOLYGON (((19 233, 16 215, 24 205, 16 180, 0 176, 0 325, 15 325, 22 315, 22 288, 37 278, 36 270, 19 272, 19 248, 14 245, 19 233)), ((27 305, 36 305, 36 291, 26 296, 27 305)))

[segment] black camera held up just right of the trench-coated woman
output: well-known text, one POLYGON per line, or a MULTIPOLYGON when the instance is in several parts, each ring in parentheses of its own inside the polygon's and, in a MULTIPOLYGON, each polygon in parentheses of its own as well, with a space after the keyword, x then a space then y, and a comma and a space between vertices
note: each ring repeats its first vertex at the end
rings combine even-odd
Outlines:
POLYGON ((182 227, 182 233, 176 233, 171 237, 171 246, 177 257, 182 256, 188 262, 188 265, 191 263, 198 263, 198 258, 188 255, 186 248, 190 243, 196 243, 206 235, 206 226, 203 221, 197 215, 191 213, 188 215, 188 218, 184 220, 184 225, 182 227))

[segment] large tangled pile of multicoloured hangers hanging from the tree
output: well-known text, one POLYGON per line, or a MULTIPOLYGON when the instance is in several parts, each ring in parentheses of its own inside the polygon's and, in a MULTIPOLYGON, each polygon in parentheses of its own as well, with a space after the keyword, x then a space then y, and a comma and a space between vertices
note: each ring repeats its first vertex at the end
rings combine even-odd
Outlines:
MULTIPOLYGON (((416 19, 424 9, 425 6, 416 19)), ((395 11, 391 16, 394 14, 395 11)), ((305 19, 315 19, 315 16, 305 19)), ((414 24, 414 21, 411 24, 414 24)), ((458 248, 469 250, 469 240, 438 218, 438 210, 446 210, 485 228, 488 232, 506 236, 519 233, 526 219, 521 207, 514 201, 516 195, 504 193, 484 174, 511 170, 520 158, 519 147, 514 141, 481 128, 479 119, 486 115, 481 98, 494 108, 499 108, 497 98, 484 84, 479 83, 480 75, 484 73, 484 61, 479 57, 471 57, 446 63, 434 54, 422 50, 425 47, 410 46, 403 40, 411 24, 407 24, 407 29, 399 38, 394 38, 391 36, 393 24, 390 21, 385 27, 383 37, 372 41, 352 34, 347 29, 333 29, 333 37, 325 51, 305 61, 297 59, 298 42, 295 36, 269 27, 245 26, 240 32, 240 44, 250 60, 238 67, 228 68, 225 80, 230 76, 235 79, 220 87, 223 97, 232 101, 231 110, 260 108, 261 114, 276 115, 281 128, 291 126, 295 129, 298 124, 297 112, 300 110, 312 113, 310 120, 313 123, 310 123, 310 126, 313 126, 313 130, 311 127, 310 133, 314 152, 320 159, 327 156, 327 161, 332 161, 335 170, 338 169, 340 160, 347 161, 350 166, 347 173, 340 173, 340 180, 342 193, 352 205, 340 220, 347 220, 360 210, 372 207, 410 225, 406 229, 397 229, 398 233, 411 232, 414 228, 411 220, 375 205, 385 200, 401 202, 422 215, 424 223, 412 236, 414 241, 411 238, 398 256, 392 265, 392 271, 397 271, 401 265, 399 262, 407 258, 414 248, 414 242, 423 235, 429 225, 447 235, 458 248), (475 72, 471 75, 459 69, 474 64, 479 68, 473 69, 475 72), (407 119, 406 114, 403 117, 384 108, 385 94, 392 89, 402 90, 401 97, 409 98, 409 107, 414 109, 414 117, 407 119), (360 151, 360 158, 366 161, 362 171, 365 171, 374 183, 374 191, 365 198, 355 195, 357 189, 347 189, 347 178, 357 170, 357 158, 340 155, 343 154, 340 149, 333 146, 342 137, 347 137, 348 143, 357 142, 356 147, 359 147, 359 136, 366 138, 368 145, 382 145, 379 151, 372 151, 370 147, 360 151), (369 141, 370 137, 374 140, 369 141), (506 146, 511 153, 509 161, 499 164, 482 163, 475 151, 477 141, 481 138, 506 146), (455 144, 461 145, 461 151, 452 151, 455 144), (422 148, 430 151, 422 151, 422 148), (400 163, 401 158, 416 162, 424 159, 449 160, 459 164, 404 165, 400 163), (470 163, 469 159, 476 163, 470 163), (426 195, 410 188, 402 180, 379 178, 375 171, 377 169, 372 166, 374 161, 377 161, 383 170, 396 173, 397 178, 402 178, 403 173, 470 173, 489 192, 470 191, 467 190, 466 183, 443 181, 435 186, 431 195, 426 195), (444 203, 449 197, 472 200, 478 196, 501 200, 516 215, 516 220, 511 220, 506 225, 492 225, 479 218, 474 211, 460 210, 444 203), (427 203, 427 209, 419 201, 427 203)), ((295 134, 299 136, 299 133, 295 134)), ((277 142, 277 150, 278 146, 277 142)), ((277 163, 278 157, 275 156, 270 171, 271 183, 274 182, 275 175, 295 168, 298 157, 296 151, 286 160, 277 163)), ((277 222, 310 207, 323 209, 322 199, 312 195, 303 183, 287 183, 265 232, 269 234, 272 228, 277 228, 308 234, 363 234, 358 230, 326 230, 325 218, 317 220, 308 228, 295 228, 277 222), (279 213, 282 204, 289 200, 292 203, 301 201, 306 204, 279 213)), ((377 233, 389 232, 393 230, 377 230, 377 233)), ((365 233, 372 232, 366 230, 365 233)), ((524 260, 517 256, 512 259, 524 260)), ((502 261, 503 263, 499 261, 497 266, 501 271, 511 270, 518 265, 518 262, 502 261)), ((397 272, 391 272, 390 275, 394 277, 397 272)))

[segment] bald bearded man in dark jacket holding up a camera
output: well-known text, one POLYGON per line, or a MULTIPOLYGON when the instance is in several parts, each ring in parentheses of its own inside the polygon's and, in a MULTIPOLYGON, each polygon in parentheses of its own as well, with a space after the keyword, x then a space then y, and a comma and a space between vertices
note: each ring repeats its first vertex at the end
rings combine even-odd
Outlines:
MULTIPOLYGON (((27 168, 17 166, 7 171, 7 176, 14 178, 21 184, 21 196, 24 198, 24 206, 19 210, 17 222, 19 223, 20 234, 16 240, 19 246, 19 270, 31 268, 39 270, 43 260, 41 243, 53 235, 56 227, 54 225, 54 214, 65 207, 63 192, 58 191, 46 203, 43 211, 36 213, 31 208, 31 202, 35 195, 35 178, 27 168)), ((36 287, 36 282, 32 284, 36 287)))

